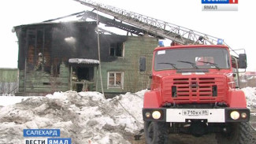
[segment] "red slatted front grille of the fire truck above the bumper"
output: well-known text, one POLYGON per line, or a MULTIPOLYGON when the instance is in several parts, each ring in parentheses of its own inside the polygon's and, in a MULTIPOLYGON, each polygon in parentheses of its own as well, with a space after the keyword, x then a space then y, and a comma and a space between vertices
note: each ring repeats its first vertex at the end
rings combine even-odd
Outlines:
POLYGON ((175 101, 215 101, 224 94, 224 82, 221 77, 187 77, 166 80, 164 94, 175 101), (172 89, 170 90, 170 85, 172 89))

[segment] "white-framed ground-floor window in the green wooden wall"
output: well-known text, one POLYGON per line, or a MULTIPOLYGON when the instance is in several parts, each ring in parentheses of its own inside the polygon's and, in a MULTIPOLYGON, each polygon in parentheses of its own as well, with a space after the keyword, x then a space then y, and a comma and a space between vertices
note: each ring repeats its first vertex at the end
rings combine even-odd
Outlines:
POLYGON ((108 72, 108 88, 123 88, 124 72, 108 72))

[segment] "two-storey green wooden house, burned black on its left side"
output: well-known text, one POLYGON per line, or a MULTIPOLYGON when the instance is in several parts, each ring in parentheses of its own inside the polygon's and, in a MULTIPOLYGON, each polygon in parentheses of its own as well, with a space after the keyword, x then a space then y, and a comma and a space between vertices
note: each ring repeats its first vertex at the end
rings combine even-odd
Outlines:
POLYGON ((19 44, 18 95, 54 91, 135 92, 148 87, 152 51, 158 39, 99 32, 96 22, 44 22, 14 27, 19 44), (99 41, 98 41, 99 37, 99 41), (98 42, 100 59, 98 57, 98 42), (139 72, 139 57, 147 71, 139 72))

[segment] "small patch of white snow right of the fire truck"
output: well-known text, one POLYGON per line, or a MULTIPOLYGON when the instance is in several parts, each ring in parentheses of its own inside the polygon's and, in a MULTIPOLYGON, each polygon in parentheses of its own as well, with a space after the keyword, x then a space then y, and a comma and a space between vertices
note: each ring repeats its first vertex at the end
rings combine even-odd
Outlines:
POLYGON ((256 87, 246 87, 242 89, 247 97, 247 106, 249 108, 256 108, 256 87))

